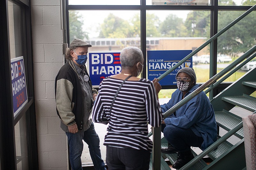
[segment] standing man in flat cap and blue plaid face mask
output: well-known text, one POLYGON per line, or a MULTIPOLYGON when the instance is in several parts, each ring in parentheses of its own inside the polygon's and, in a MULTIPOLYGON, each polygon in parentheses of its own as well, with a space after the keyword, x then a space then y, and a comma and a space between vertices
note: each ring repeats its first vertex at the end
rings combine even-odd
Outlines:
POLYGON ((72 170, 82 170, 83 140, 88 144, 94 168, 106 170, 100 154, 100 139, 95 132, 90 113, 97 90, 84 65, 88 48, 84 40, 74 39, 66 51, 66 59, 55 79, 55 97, 60 127, 66 132, 72 170))

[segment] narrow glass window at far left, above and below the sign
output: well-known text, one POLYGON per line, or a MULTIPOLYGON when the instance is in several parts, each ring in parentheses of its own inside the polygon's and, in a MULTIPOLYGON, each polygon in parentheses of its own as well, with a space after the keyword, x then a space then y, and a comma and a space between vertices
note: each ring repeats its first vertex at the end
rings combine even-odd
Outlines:
MULTIPOLYGON (((21 6, 8 1, 8 21, 9 21, 9 41, 10 41, 10 58, 24 56, 23 36, 23 13, 21 6)), ((26 80, 25 80, 26 81, 26 80)), ((25 91, 26 92, 26 91, 25 91)), ((13 105, 16 102, 13 101, 13 105)), ((28 169, 28 142, 25 114, 14 126, 15 133, 15 150, 17 169, 28 169)))

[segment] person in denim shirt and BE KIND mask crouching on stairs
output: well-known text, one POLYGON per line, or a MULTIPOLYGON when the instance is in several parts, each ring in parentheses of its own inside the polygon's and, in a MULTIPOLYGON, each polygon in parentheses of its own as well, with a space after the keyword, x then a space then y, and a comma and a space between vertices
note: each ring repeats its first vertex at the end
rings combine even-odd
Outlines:
MULTIPOLYGON (((176 81, 178 89, 172 93, 168 103, 161 105, 163 113, 199 87, 196 85, 196 73, 189 67, 177 72, 176 81)), ((178 159, 172 165, 175 169, 180 169, 194 158, 191 146, 205 150, 213 144, 217 140, 217 124, 212 104, 206 94, 200 92, 165 118, 162 132, 168 141, 168 147, 161 148, 161 152, 178 152, 178 159)))

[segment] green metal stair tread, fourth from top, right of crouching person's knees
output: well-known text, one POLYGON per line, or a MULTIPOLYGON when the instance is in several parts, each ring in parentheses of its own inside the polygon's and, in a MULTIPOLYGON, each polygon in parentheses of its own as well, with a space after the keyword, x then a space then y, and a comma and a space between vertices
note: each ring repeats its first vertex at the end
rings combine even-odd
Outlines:
MULTIPOLYGON (((217 140, 220 139, 220 136, 217 135, 217 140)), ((222 142, 217 149, 211 151, 208 153, 208 156, 212 159, 215 160, 219 158, 224 152, 228 151, 233 146, 233 144, 230 144, 228 141, 222 142)))

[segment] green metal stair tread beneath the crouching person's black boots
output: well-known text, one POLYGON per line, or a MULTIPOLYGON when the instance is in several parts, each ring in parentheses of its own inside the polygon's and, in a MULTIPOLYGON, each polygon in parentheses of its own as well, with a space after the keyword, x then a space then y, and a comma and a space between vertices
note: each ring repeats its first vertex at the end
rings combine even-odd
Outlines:
MULTIPOLYGON (((161 147, 167 147, 168 144, 161 144, 161 147)), ((193 150, 191 150, 194 157, 197 156, 196 152, 194 152, 193 150)), ((177 160, 177 154, 178 153, 171 153, 171 154, 165 154, 166 157, 170 160, 170 162, 173 164, 176 160, 177 160)), ((200 160, 198 161, 195 165, 193 165, 192 167, 189 168, 189 170, 195 170, 195 169, 203 169, 205 166, 207 166, 207 164, 204 162, 204 160, 200 160)), ((162 169, 161 169, 162 170, 162 169)))

